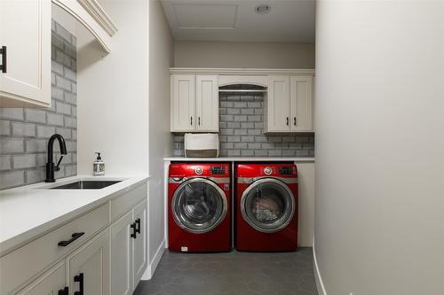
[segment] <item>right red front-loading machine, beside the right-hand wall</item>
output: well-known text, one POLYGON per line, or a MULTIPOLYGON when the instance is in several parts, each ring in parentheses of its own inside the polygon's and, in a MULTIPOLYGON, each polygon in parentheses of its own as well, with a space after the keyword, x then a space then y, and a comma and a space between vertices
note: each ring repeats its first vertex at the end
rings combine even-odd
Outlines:
POLYGON ((289 252, 297 249, 297 167, 236 165, 236 249, 289 252))

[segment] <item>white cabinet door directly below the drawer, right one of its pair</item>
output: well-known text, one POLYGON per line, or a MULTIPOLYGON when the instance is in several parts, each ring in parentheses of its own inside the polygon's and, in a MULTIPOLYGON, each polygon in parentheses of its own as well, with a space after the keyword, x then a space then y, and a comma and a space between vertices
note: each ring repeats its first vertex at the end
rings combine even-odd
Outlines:
POLYGON ((109 294, 109 229, 75 250, 66 261, 70 294, 109 294))

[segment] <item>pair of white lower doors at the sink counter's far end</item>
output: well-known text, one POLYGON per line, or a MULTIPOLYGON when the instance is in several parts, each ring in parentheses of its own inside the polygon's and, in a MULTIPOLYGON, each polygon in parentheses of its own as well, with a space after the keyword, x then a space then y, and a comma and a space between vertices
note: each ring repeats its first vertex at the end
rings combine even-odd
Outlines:
POLYGON ((115 221, 111 232, 111 295, 134 291, 147 268, 147 201, 115 221))

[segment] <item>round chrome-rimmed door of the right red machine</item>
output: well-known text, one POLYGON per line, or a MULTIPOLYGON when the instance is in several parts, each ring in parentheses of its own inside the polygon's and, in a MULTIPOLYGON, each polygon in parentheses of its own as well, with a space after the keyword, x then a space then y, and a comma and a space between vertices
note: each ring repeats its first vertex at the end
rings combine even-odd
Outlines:
POLYGON ((242 217, 250 226, 271 233, 284 229, 295 213, 295 198, 289 187, 274 178, 253 182, 241 198, 242 217))

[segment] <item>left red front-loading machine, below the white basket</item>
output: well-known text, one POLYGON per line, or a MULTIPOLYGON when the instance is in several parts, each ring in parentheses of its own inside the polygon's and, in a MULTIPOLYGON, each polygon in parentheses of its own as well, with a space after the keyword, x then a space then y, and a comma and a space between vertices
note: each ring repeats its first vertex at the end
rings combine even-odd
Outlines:
POLYGON ((168 189, 171 251, 231 250, 229 164, 170 164, 168 189))

